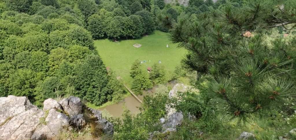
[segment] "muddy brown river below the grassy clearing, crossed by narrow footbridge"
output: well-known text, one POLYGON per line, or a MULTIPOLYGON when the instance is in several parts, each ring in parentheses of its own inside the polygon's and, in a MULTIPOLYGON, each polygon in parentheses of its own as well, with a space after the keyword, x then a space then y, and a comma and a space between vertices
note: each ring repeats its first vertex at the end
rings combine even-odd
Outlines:
MULTIPOLYGON (((167 83, 166 86, 173 88, 176 84, 177 84, 176 81, 171 81, 167 83)), ((153 93, 155 93, 156 88, 158 88, 158 86, 154 86, 153 88, 144 90, 143 95, 138 95, 137 97, 140 100, 143 100, 144 96, 152 95, 153 93)), ((110 113, 110 115, 112 115, 113 117, 121 118, 122 117, 121 115, 124 111, 123 107, 126 107, 126 109, 131 111, 131 114, 135 115, 140 112, 140 110, 137 108, 140 106, 141 106, 141 103, 136 98, 134 98, 133 96, 129 96, 125 98, 122 102, 100 108, 99 110, 106 109, 110 113)))

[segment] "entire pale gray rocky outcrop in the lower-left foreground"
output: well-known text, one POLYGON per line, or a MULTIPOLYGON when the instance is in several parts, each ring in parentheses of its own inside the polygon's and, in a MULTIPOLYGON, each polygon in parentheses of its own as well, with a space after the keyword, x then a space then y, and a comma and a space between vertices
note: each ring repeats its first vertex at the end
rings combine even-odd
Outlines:
POLYGON ((60 102, 47 99, 43 110, 27 97, 0 97, 0 140, 54 139, 62 131, 80 131, 89 125, 113 134, 113 124, 102 118, 100 111, 83 107, 78 97, 60 102))

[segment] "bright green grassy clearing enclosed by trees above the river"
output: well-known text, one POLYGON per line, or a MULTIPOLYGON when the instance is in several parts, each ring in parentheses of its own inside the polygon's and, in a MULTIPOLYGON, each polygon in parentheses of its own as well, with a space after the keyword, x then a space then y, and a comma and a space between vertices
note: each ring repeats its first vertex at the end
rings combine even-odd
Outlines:
POLYGON ((170 43, 168 33, 161 31, 154 31, 152 34, 139 39, 121 40, 119 42, 104 39, 96 40, 94 43, 106 67, 114 70, 128 86, 133 81, 129 72, 136 59, 147 61, 142 63, 143 69, 161 61, 170 78, 185 54, 185 49, 177 49, 177 44, 170 43), (141 44, 142 46, 135 48, 133 44, 141 44), (168 48, 166 47, 167 44, 169 45, 168 48))

